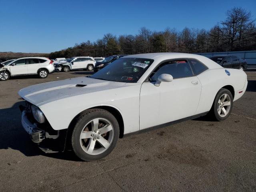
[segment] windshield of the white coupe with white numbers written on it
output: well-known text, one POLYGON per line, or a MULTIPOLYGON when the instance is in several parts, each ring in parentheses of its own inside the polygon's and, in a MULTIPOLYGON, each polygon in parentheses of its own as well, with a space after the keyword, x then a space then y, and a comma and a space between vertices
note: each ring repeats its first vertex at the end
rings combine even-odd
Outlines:
POLYGON ((96 72, 90 78, 136 83, 153 61, 146 58, 120 58, 96 72))

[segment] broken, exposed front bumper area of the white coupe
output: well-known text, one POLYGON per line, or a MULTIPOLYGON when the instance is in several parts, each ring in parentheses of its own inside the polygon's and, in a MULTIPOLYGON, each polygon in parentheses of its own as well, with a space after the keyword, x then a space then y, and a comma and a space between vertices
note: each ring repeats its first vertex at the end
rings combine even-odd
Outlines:
POLYGON ((22 126, 31 140, 46 153, 63 152, 66 144, 66 130, 53 130, 48 122, 37 123, 28 108, 20 107, 22 110, 22 126))

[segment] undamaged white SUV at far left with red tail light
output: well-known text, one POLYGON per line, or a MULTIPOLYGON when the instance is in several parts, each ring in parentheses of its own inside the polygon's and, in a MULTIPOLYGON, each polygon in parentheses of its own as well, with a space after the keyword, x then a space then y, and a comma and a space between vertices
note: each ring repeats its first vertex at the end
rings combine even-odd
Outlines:
POLYGON ((24 57, 16 59, 7 65, 0 66, 0 80, 6 81, 10 76, 24 76, 38 74, 40 78, 46 78, 54 72, 52 60, 46 57, 24 57))

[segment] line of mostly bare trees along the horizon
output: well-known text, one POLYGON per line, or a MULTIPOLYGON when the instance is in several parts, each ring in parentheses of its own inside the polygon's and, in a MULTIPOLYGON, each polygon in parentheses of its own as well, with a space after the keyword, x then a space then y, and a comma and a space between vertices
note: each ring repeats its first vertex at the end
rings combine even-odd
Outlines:
POLYGON ((73 56, 110 56, 150 52, 226 52, 256 50, 255 19, 250 11, 234 7, 226 12, 226 19, 210 30, 185 27, 182 31, 166 28, 151 31, 140 28, 138 34, 115 36, 105 34, 95 42, 88 40, 73 47, 50 53, 50 58, 73 56))

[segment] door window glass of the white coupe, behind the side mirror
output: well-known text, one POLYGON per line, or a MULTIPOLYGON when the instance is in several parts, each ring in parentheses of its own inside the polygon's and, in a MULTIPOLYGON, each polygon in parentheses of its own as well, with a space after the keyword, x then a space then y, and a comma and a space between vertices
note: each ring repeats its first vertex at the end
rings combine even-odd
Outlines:
POLYGON ((150 78, 152 81, 156 81, 158 76, 164 73, 172 75, 173 78, 193 76, 190 65, 186 60, 165 62, 151 74, 150 78))

